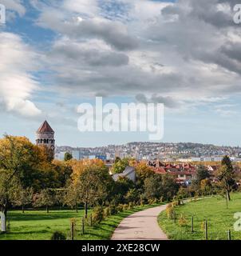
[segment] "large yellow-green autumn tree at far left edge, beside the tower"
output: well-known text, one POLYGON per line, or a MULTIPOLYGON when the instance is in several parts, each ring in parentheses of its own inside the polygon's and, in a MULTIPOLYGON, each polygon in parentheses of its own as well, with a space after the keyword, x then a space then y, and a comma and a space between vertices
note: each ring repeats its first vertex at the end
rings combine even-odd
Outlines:
POLYGON ((6 214, 10 206, 12 186, 15 186, 15 181, 19 179, 22 186, 26 187, 29 176, 38 169, 40 161, 41 154, 38 146, 34 146, 27 138, 5 135, 4 138, 0 139, 0 169, 4 173, 0 185, 3 232, 6 231, 6 214))

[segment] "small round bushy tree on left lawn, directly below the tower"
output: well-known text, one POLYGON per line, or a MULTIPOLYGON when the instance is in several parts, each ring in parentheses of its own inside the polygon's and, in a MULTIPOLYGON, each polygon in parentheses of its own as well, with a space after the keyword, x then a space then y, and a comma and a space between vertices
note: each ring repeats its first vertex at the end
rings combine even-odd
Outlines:
POLYGON ((41 190, 40 193, 34 194, 34 206, 35 207, 46 207, 47 213, 49 213, 49 207, 53 206, 56 202, 54 191, 45 189, 41 190))

